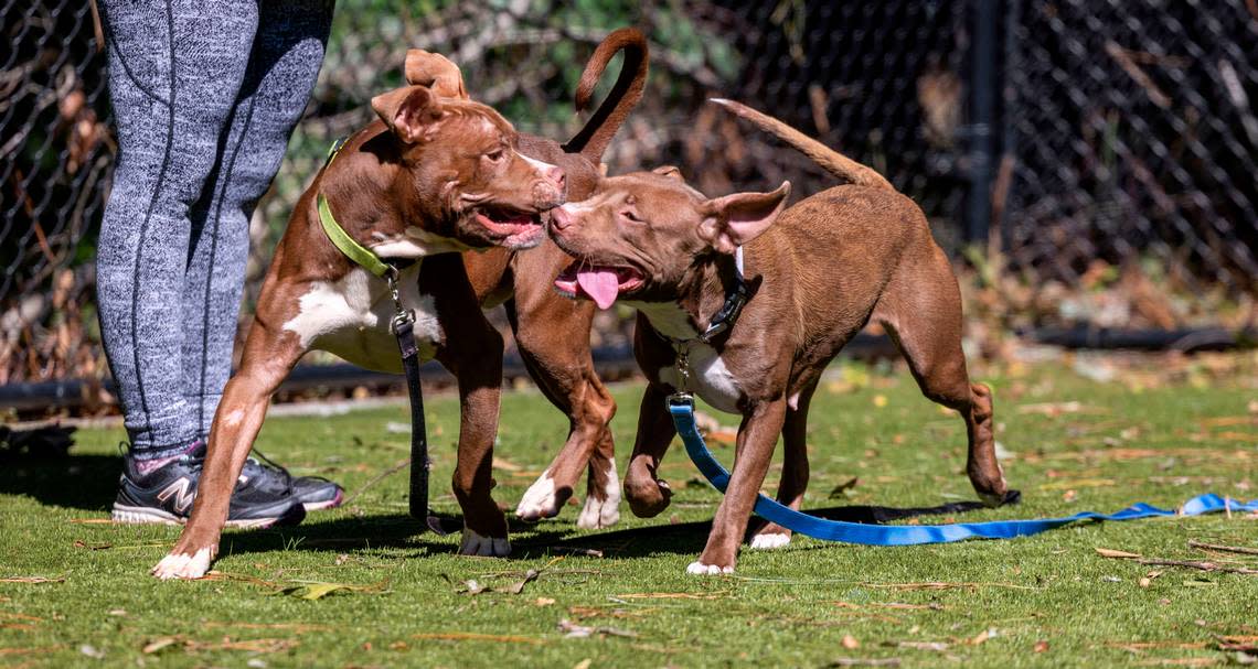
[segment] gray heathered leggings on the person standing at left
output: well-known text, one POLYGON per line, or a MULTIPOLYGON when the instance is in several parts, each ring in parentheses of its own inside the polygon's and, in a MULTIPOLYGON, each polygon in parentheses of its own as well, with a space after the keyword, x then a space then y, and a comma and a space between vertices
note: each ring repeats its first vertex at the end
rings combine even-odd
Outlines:
POLYGON ((102 0, 118 161, 97 249, 131 454, 209 434, 231 370, 249 218, 279 169, 332 0, 102 0))

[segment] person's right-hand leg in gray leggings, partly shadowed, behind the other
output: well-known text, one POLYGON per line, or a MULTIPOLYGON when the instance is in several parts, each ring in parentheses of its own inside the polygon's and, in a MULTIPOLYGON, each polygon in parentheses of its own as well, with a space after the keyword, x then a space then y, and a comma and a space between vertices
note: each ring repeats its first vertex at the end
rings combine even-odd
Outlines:
POLYGON ((258 6, 244 86, 221 160, 191 211, 192 245, 184 288, 181 387, 206 439, 231 371, 249 219, 284 157, 318 78, 332 24, 330 0, 268 0, 258 6))

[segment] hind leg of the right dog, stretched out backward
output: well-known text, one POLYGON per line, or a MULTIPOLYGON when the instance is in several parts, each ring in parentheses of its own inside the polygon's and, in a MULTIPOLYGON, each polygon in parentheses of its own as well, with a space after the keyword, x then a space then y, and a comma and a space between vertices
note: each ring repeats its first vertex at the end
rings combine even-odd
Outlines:
POLYGON ((971 384, 961 351, 961 293, 944 253, 906 258, 874 308, 873 319, 908 361, 922 394, 961 414, 969 438, 966 473, 988 506, 1005 497, 1004 472, 996 462, 991 390, 971 384))

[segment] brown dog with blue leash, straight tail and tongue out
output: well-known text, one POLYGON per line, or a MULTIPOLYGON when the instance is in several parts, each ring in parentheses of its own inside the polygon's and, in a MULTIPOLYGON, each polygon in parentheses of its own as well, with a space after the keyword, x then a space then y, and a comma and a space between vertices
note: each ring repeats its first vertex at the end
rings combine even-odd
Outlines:
MULTIPOLYGON (((1005 493, 991 435, 991 394, 971 384, 961 352, 961 297, 926 218, 882 176, 751 109, 726 103, 853 185, 785 207, 790 184, 772 192, 708 199, 676 169, 608 179, 599 194, 551 211, 551 236, 579 260, 556 280, 567 296, 639 309, 635 353, 648 379, 638 439, 625 474, 634 513, 668 506, 657 478, 674 428, 665 397, 694 391, 742 415, 733 474, 691 573, 733 571, 777 435, 785 463, 777 499, 798 509, 808 483, 808 405, 827 363, 869 321, 898 345, 931 400, 965 420, 967 473, 979 494, 1005 493), (745 269, 740 272, 736 257, 745 269), (751 293, 735 324, 699 341, 746 277, 751 293), (688 377, 678 370, 688 361, 688 377)), ((790 533, 761 528, 752 547, 790 533)))

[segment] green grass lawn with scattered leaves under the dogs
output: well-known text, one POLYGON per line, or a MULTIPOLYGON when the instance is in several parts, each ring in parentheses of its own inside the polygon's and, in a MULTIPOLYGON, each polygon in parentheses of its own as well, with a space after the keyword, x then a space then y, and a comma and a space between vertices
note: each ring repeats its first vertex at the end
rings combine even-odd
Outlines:
MULTIPOLYGON (((1258 360, 1242 360, 1239 373, 1189 361, 1176 373, 1107 382, 1062 362, 985 368, 976 376, 995 390, 1005 473, 1023 502, 908 522, 1174 507, 1211 490, 1258 498, 1258 360)), ((620 472, 639 391, 616 389, 620 472)), ((496 498, 513 508, 566 421, 532 391, 504 394, 502 409, 496 498)), ((453 514, 458 401, 434 396, 428 411, 433 503, 453 514)), ((259 446, 355 494, 406 458, 405 421, 404 406, 273 417, 259 446)), ((835 368, 813 402, 810 434, 806 507, 974 499, 961 421, 905 372, 835 368), (852 478, 854 488, 829 498, 852 478)), ((688 576, 718 493, 677 443, 663 468, 673 506, 659 518, 639 521, 623 506, 620 524, 585 532, 574 506, 515 524, 508 560, 459 557, 457 536, 418 533, 396 473, 299 527, 228 532, 216 577, 159 582, 148 568, 179 529, 107 522, 122 436, 81 430, 68 460, 0 472, 0 665, 1198 666, 1238 659, 1219 650, 1222 636, 1258 641, 1258 576, 1096 551, 1258 567, 1258 556, 1189 546, 1258 547, 1258 519, 1242 514, 899 548, 796 537, 785 550, 743 551, 733 576, 688 576), (528 570, 540 575, 526 582, 528 570), (317 595, 317 583, 353 589, 298 596, 317 595)), ((716 453, 728 465, 732 449, 716 453)), ((776 485, 776 472, 769 480, 776 485)))

